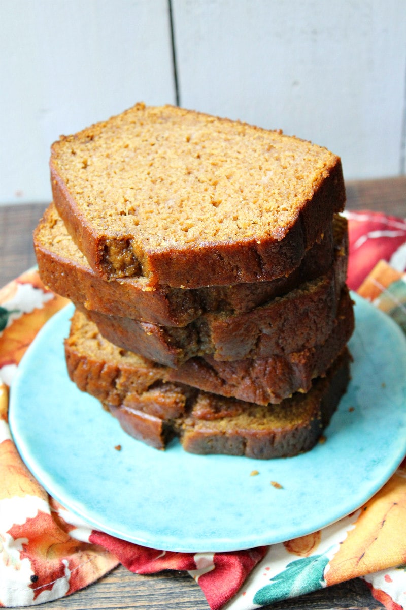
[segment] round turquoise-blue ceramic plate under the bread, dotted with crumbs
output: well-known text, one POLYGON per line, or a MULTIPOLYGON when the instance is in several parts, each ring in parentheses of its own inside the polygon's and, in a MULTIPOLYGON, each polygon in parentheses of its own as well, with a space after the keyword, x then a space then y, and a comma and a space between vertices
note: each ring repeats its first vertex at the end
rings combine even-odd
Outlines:
POLYGON ((147 547, 239 550, 323 528, 368 500, 406 453, 405 337, 353 296, 352 381, 327 442, 309 453, 259 461, 196 456, 177 441, 157 451, 131 439, 68 379, 71 306, 44 326, 18 367, 10 404, 18 450, 66 508, 147 547))

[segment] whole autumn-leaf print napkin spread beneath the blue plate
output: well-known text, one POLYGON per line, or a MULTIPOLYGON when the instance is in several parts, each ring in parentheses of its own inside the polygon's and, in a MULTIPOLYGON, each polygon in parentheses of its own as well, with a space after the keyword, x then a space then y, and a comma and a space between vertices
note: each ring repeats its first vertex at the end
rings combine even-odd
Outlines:
MULTIPOLYGON (((348 284, 406 332, 406 222, 348 212, 348 284)), ((406 461, 362 508, 309 536, 230 553, 175 553, 100 531, 49 497, 16 451, 9 386, 41 326, 67 301, 35 270, 0 290, 0 606, 29 606, 88 586, 119 563, 139 574, 185 570, 212 610, 249 610, 362 578, 391 610, 406 610, 406 461)))

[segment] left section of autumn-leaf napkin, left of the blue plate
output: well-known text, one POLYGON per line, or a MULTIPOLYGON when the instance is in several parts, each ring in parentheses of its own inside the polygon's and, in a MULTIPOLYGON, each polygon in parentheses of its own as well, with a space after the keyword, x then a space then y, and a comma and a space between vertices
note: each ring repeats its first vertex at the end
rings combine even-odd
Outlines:
POLYGON ((27 470, 7 423, 13 374, 37 332, 66 303, 44 289, 37 271, 0 290, 0 606, 55 600, 118 564, 105 548, 74 536, 74 520, 65 520, 27 470))

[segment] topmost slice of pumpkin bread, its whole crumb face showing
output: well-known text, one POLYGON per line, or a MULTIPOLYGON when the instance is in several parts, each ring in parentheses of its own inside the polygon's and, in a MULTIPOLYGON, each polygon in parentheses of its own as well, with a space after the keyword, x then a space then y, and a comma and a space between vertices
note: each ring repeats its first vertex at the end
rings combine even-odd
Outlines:
POLYGON ((195 288, 298 267, 343 210, 326 148, 173 106, 135 107, 52 145, 55 205, 103 278, 195 288))

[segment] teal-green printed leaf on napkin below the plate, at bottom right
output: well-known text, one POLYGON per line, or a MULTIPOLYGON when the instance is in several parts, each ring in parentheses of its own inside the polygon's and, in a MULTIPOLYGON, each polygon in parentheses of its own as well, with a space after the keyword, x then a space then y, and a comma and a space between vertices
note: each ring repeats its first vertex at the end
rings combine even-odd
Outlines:
POLYGON ((273 576, 270 584, 256 592, 254 604, 265 606, 322 589, 324 569, 328 562, 326 555, 315 555, 290 562, 283 572, 273 576))

